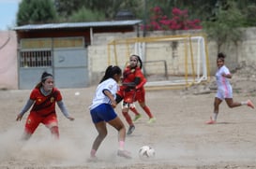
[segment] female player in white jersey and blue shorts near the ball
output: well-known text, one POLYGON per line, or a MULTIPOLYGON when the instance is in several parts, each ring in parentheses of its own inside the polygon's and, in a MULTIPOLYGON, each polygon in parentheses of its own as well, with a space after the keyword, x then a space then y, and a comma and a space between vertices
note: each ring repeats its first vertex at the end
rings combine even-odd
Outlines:
POLYGON ((118 66, 110 65, 104 77, 100 80, 96 90, 93 103, 89 107, 92 120, 98 131, 92 149, 91 158, 96 158, 96 152, 99 145, 107 135, 106 122, 112 125, 118 131, 119 148, 117 155, 130 159, 130 153, 124 149, 126 139, 126 128, 122 120, 114 112, 113 108, 116 106, 115 94, 118 90, 117 82, 122 76, 122 70, 118 66))

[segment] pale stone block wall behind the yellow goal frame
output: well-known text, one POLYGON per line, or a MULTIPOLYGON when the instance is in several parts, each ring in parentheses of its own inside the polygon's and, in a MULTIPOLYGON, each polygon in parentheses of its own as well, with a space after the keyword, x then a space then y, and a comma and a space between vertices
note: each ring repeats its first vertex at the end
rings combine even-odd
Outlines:
MULTIPOLYGON (((248 28, 244 30, 243 40, 238 43, 238 46, 235 45, 223 45, 221 52, 226 53, 226 65, 231 69, 235 70, 237 67, 248 64, 256 64, 256 28, 248 28)), ((200 34, 198 31, 190 31, 190 32, 154 32, 147 33, 147 36, 162 36, 162 35, 184 35, 184 34, 200 34)), ((140 35, 143 35, 140 33, 140 35)), ((103 75, 103 72, 108 63, 108 43, 110 43, 113 39, 120 38, 131 38, 136 37, 135 33, 128 34, 98 34, 94 35, 94 43, 88 49, 88 55, 90 58, 90 73, 91 73, 91 81, 94 84, 98 82, 99 78, 103 75)), ((181 44, 182 45, 182 44, 181 44)), ((216 42, 208 41, 207 42, 208 49, 208 57, 209 57, 209 69, 210 74, 214 75, 216 71, 216 59, 218 54, 218 48, 216 42)), ((122 47, 115 49, 117 53, 117 61, 118 63, 113 63, 113 58, 111 60, 112 64, 118 64, 119 66, 125 66, 125 63, 128 62, 128 47, 123 45, 122 47)), ((113 49, 111 49, 113 52, 113 49)), ((132 52, 131 52, 132 53, 132 52)), ((182 74, 184 73, 184 58, 173 57, 170 56, 172 53, 172 48, 170 48, 170 43, 159 43, 159 44, 149 44, 146 50, 146 60, 147 61, 155 61, 155 60, 167 60, 166 57, 169 57, 170 62, 167 63, 168 73, 169 74, 182 74), (172 59, 170 59, 172 58, 172 59)), ((178 53, 184 56, 184 50, 179 48, 178 53)), ((154 63, 154 66, 150 66, 151 68, 147 73, 160 73, 162 74, 163 63, 154 63)), ((189 67, 189 66, 188 66, 189 67)))

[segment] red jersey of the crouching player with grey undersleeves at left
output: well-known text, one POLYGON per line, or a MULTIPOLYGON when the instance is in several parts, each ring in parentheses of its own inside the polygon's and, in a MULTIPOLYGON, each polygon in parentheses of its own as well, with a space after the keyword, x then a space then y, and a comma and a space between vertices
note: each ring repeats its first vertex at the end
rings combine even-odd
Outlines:
POLYGON ((43 95, 38 88, 35 88, 30 94, 30 99, 36 101, 31 112, 47 116, 55 113, 55 103, 62 100, 62 95, 56 88, 53 88, 48 96, 43 95))

